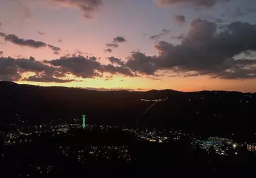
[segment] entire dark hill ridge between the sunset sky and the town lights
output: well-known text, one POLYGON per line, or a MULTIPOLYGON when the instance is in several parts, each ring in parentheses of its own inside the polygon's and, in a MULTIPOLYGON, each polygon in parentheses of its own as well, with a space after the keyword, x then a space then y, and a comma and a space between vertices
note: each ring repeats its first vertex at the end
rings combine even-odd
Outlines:
POLYGON ((42 87, 0 82, 1 122, 47 123, 57 118, 89 117, 96 124, 181 128, 193 133, 256 133, 256 94, 225 91, 98 92, 78 88, 42 87), (153 102, 164 99, 141 118, 153 102))

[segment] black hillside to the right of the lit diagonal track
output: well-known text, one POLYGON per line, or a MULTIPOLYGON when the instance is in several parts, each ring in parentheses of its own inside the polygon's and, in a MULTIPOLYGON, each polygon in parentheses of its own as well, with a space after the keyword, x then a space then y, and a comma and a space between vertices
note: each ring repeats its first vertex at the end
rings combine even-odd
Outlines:
POLYGON ((143 120, 151 127, 158 125, 235 139, 253 135, 256 139, 255 108, 255 93, 175 93, 168 101, 156 104, 143 120))

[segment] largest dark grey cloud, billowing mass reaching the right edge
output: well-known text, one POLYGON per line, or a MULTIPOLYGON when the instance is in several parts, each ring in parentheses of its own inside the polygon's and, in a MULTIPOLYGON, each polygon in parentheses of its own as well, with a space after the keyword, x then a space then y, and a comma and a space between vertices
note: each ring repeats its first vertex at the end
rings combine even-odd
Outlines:
POLYGON ((246 22, 232 22, 218 29, 215 22, 195 19, 187 35, 182 35, 181 44, 161 41, 155 45, 158 56, 133 53, 125 66, 147 75, 169 70, 183 77, 256 78, 256 60, 235 58, 238 54, 256 51, 255 27, 246 22))

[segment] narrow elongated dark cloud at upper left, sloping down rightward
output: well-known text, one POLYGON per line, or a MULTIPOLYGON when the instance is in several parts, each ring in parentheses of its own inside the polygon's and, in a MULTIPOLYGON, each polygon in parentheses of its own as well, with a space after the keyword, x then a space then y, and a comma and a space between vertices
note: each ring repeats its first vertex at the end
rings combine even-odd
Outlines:
MULTIPOLYGON (((4 34, 2 34, 1 36, 4 36, 4 34)), ((8 42, 12 42, 13 44, 21 45, 21 46, 28 46, 28 47, 34 47, 34 48, 46 47, 46 44, 44 42, 35 41, 35 40, 25 40, 13 34, 5 35, 4 40, 8 42)))

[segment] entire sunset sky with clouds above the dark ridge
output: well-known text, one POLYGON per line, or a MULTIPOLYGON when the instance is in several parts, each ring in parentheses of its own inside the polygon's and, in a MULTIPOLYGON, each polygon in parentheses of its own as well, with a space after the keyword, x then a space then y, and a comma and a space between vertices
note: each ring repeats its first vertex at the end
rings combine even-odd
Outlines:
POLYGON ((256 92, 255 0, 1 0, 0 80, 256 92))

